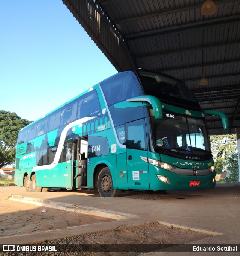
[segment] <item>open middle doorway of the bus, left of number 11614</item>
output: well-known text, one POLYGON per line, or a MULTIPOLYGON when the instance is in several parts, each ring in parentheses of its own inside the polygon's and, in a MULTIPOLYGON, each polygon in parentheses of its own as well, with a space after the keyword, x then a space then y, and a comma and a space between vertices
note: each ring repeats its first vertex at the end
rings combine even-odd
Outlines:
POLYGON ((87 187, 87 137, 74 140, 73 187, 87 187))

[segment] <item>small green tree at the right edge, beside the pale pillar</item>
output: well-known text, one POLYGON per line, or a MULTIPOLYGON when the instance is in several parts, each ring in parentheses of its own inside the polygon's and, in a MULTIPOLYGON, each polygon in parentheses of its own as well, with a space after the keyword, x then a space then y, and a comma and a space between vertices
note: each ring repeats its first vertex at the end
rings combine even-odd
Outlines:
POLYGON ((226 183, 239 182, 239 162, 237 153, 233 152, 231 155, 229 155, 226 162, 229 177, 225 177, 224 181, 226 183))

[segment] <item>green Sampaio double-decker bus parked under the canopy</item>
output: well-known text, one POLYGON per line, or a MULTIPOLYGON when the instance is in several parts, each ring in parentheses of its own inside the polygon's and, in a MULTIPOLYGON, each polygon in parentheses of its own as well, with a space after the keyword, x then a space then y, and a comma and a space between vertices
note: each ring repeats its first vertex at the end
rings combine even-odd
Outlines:
POLYGON ((19 132, 15 184, 162 192, 215 187, 205 115, 184 82, 135 69, 117 73, 19 132))

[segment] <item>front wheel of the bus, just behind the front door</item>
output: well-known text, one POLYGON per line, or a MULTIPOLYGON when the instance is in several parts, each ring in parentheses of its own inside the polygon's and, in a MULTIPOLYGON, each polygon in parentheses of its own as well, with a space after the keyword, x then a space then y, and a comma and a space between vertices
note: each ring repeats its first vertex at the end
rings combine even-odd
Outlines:
POLYGON ((113 179, 108 167, 99 172, 98 193, 100 197, 118 197, 121 194, 121 190, 113 188, 113 179))

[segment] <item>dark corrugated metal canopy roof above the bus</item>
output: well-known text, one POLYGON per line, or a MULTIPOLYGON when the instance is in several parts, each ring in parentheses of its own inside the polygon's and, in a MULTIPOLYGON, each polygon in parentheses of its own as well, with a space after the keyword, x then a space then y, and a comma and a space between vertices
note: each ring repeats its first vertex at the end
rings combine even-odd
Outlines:
POLYGON ((157 70, 186 82, 202 109, 224 112, 229 129, 207 116, 210 134, 240 126, 240 1, 63 0, 113 66, 157 70), (208 85, 199 85, 204 77, 208 85))

